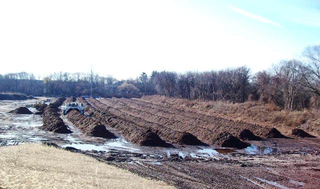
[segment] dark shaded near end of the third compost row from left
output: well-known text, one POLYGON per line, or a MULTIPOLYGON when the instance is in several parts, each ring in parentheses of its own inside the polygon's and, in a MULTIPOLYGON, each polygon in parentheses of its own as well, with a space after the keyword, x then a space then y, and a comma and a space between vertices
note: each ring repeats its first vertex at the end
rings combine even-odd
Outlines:
POLYGON ((139 146, 170 147, 171 145, 163 141, 156 133, 146 130, 136 142, 139 146))

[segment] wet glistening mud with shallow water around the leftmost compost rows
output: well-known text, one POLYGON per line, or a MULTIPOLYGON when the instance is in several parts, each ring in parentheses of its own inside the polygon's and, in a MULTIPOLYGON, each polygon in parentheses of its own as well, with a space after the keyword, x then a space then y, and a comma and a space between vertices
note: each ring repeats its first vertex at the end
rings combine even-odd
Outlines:
POLYGON ((62 147, 70 146, 80 150, 108 151, 110 149, 118 149, 130 152, 139 150, 137 146, 123 138, 104 139, 86 136, 64 116, 61 116, 61 119, 73 132, 71 134, 58 134, 41 130, 40 127, 43 123, 40 115, 7 113, 20 106, 26 106, 30 111, 36 112, 35 108, 31 106, 41 98, 22 101, 0 101, 0 146, 30 142, 51 142, 62 147))

